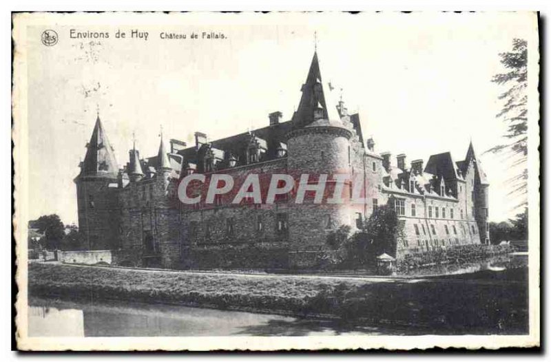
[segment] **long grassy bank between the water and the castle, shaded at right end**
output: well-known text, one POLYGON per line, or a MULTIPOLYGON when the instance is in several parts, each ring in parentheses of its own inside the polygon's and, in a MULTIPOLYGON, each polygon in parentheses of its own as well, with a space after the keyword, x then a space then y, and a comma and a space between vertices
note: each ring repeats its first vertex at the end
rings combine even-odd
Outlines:
POLYGON ((454 334, 525 332, 526 277, 508 270, 467 280, 372 281, 29 265, 31 295, 332 315, 343 323, 399 323, 454 334))

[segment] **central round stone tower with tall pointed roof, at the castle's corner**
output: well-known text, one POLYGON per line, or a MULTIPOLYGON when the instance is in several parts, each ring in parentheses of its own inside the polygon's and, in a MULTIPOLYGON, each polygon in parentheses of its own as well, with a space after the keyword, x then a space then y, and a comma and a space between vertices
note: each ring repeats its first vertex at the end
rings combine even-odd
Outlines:
MULTIPOLYGON (((314 54, 302 98, 293 114, 293 129, 287 134, 287 169, 295 178, 295 198, 289 203, 289 241, 291 250, 331 248, 327 234, 341 225, 351 225, 349 175, 351 173, 352 132, 342 123, 337 103, 322 82, 318 56, 314 54), (347 175, 342 185, 340 202, 332 202, 335 175, 347 175), (302 203, 297 200, 301 188, 311 190, 326 175, 324 197, 316 202, 312 192, 306 192, 302 203), (329 200, 329 201, 328 201, 329 200)), ((338 197, 337 197, 338 198, 338 197)), ((333 200, 334 201, 334 200, 333 200)))

